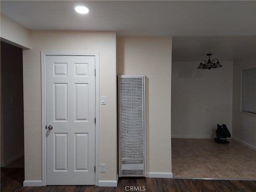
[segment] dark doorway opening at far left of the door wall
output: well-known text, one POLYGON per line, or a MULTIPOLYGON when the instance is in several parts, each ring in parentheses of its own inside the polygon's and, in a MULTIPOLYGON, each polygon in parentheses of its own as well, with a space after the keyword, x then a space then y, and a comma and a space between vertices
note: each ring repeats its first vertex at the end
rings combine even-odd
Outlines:
POLYGON ((1 167, 24 168, 22 48, 1 41, 1 167))

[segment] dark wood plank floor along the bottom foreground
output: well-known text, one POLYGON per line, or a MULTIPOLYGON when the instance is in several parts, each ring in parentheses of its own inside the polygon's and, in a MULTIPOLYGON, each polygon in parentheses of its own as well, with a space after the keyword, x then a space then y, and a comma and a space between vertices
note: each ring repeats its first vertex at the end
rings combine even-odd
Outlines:
POLYGON ((255 192, 256 181, 120 178, 118 187, 23 187, 23 168, 1 168, 1 192, 255 192), (127 187, 126 187, 127 186, 127 187), (136 190, 132 187, 136 187, 136 190), (131 190, 132 189, 132 190, 131 190))

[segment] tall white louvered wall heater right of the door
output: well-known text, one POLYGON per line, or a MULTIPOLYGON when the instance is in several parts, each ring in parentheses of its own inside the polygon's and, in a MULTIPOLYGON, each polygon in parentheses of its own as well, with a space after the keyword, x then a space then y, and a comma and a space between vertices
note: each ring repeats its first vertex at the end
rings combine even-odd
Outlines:
POLYGON ((119 176, 146 176, 145 76, 118 76, 119 176))

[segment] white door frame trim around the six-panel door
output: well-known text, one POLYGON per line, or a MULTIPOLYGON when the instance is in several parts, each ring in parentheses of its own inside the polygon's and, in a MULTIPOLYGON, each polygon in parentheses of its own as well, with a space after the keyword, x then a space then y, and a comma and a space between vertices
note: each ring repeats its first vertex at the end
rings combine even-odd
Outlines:
POLYGON ((41 92, 42 92, 42 186, 47 184, 46 174, 46 56, 95 56, 95 185, 99 186, 99 144, 100 144, 100 66, 99 52, 41 52, 41 92))

